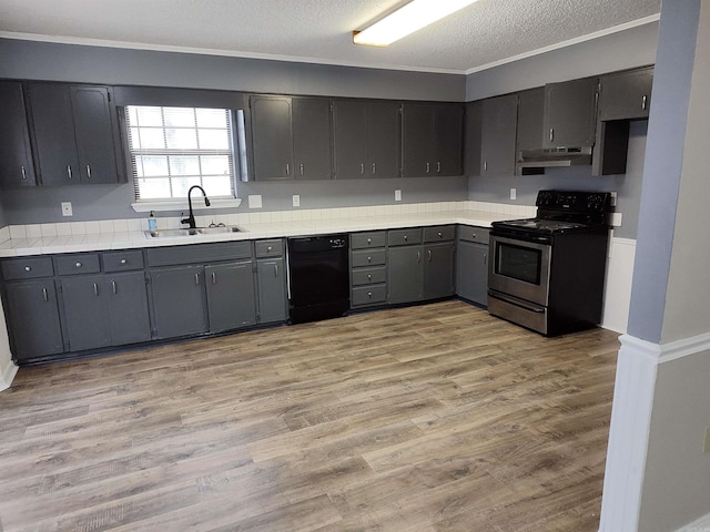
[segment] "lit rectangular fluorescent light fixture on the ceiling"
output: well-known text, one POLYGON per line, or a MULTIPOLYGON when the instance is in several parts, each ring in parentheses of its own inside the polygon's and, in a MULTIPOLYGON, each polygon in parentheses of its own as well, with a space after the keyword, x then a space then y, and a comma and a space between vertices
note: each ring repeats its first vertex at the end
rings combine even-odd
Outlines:
POLYGON ((476 0, 412 0, 363 31, 353 32, 355 44, 386 47, 476 0))

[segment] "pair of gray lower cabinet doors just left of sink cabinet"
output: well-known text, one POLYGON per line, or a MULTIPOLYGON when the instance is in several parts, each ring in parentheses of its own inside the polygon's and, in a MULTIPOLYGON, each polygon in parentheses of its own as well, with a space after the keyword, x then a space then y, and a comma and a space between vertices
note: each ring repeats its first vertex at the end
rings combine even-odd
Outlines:
POLYGON ((151 339, 143 272, 75 275, 60 283, 70 351, 151 339))

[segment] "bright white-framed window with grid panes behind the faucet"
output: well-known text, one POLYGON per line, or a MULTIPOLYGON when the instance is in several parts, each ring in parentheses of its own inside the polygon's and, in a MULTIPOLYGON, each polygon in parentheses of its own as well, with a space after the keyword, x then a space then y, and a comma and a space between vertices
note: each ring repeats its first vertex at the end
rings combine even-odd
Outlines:
POLYGON ((138 202, 184 198, 192 185, 235 196, 229 110, 129 105, 125 119, 138 202))

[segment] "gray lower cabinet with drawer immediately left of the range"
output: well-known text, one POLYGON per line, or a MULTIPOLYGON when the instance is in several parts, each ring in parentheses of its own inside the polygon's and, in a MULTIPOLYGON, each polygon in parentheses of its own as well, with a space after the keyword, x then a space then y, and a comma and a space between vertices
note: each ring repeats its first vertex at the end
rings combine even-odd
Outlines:
POLYGON ((488 299, 488 229, 460 225, 456 247, 456 295, 481 306, 488 299))

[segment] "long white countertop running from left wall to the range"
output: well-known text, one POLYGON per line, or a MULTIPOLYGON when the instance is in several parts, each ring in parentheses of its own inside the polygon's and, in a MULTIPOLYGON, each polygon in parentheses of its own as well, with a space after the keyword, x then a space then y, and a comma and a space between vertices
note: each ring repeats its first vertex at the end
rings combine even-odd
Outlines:
MULTIPOLYGON (((393 214, 382 216, 357 216, 352 218, 308 219, 298 222, 273 222, 241 224, 242 233, 223 235, 185 236, 149 239, 144 232, 115 233, 100 241, 83 238, 70 243, 57 243, 57 238, 8 238, 0 239, 0 257, 21 257, 59 253, 103 252, 142 247, 183 246, 190 244, 284 238, 288 236, 323 235, 329 233, 356 233, 399 227, 445 224, 490 227, 491 222, 515 218, 516 215, 484 211, 450 211, 420 214, 393 214)), ((520 217, 520 216, 517 216, 520 217)), ((1 231, 1 229, 0 229, 1 231)))

